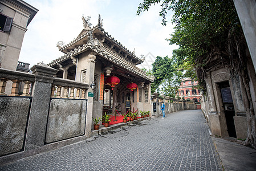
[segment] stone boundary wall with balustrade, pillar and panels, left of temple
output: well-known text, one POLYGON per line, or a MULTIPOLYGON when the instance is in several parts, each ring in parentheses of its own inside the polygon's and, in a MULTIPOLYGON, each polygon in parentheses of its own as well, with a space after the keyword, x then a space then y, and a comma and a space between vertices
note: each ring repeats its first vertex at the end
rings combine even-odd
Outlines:
POLYGON ((88 84, 56 78, 58 70, 44 65, 31 70, 33 74, 0 68, 1 164, 90 137, 88 84), (5 94, 8 81, 10 95, 5 94))

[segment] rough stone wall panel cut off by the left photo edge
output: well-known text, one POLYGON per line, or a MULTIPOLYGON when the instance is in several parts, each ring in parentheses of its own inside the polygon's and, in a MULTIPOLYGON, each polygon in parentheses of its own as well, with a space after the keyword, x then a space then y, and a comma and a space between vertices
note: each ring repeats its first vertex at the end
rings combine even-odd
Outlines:
POLYGON ((0 96, 0 156, 23 150, 31 99, 0 96))

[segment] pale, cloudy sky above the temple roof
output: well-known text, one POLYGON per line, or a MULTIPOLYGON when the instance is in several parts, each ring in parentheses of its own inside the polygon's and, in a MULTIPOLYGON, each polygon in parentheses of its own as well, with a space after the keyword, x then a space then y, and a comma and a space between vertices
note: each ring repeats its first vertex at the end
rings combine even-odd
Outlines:
POLYGON ((144 67, 149 69, 156 56, 172 56, 178 46, 169 45, 173 25, 172 12, 167 15, 168 23, 162 26, 159 16, 160 5, 151 6, 148 11, 136 15, 143 0, 23 0, 38 9, 30 22, 23 39, 20 62, 45 64, 63 56, 56 44, 74 40, 83 30, 83 21, 91 17, 92 26, 97 25, 99 14, 103 28, 135 55, 145 56, 144 67), (72 2, 72 3, 71 3, 72 2))

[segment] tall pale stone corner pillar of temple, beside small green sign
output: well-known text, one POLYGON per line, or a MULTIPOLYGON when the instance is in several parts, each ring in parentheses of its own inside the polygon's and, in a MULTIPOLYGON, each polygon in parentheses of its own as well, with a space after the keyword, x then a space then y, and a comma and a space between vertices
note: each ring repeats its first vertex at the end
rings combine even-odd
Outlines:
MULTIPOLYGON (((94 82, 94 72, 95 72, 95 59, 96 59, 96 53, 90 52, 87 56, 87 71, 86 71, 86 83, 91 85, 92 82, 94 82)), ((92 111, 93 111, 93 105, 94 105, 94 97, 89 97, 88 93, 94 93, 94 90, 89 87, 87 93, 87 115, 86 115, 86 137, 91 136, 91 129, 92 129, 92 111)))

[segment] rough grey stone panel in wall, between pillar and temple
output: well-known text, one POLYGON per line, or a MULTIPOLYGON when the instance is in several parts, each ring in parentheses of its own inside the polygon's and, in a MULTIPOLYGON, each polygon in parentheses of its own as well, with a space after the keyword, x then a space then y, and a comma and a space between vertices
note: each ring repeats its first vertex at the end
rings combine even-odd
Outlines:
POLYGON ((51 99, 46 143, 84 135, 87 100, 51 99))

